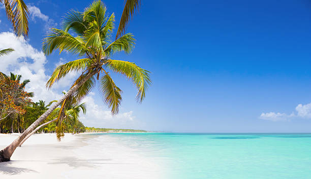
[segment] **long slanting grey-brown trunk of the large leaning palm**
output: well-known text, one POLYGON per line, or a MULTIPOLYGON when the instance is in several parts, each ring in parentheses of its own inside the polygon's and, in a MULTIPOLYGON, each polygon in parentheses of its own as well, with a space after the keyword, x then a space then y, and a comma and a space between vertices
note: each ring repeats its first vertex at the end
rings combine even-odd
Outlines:
POLYGON ((89 73, 83 80, 81 80, 76 86, 72 87, 64 96, 62 96, 57 102, 55 102, 50 109, 43 113, 32 125, 30 125, 20 136, 18 136, 8 147, 0 151, 0 162, 10 161, 15 149, 19 146, 20 142, 32 132, 40 123, 42 123, 67 97, 75 92, 80 86, 84 84, 91 76, 97 73, 96 70, 89 73))

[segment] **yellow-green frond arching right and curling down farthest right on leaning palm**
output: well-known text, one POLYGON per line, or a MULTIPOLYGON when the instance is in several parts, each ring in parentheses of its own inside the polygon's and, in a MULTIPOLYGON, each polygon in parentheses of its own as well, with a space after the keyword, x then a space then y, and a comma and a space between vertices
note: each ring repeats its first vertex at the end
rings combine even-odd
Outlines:
POLYGON ((111 60, 108 59, 106 65, 113 71, 125 75, 128 79, 131 79, 136 85, 138 93, 137 100, 141 102, 145 97, 145 91, 151 84, 149 77, 149 71, 142 69, 135 63, 122 61, 122 60, 111 60))

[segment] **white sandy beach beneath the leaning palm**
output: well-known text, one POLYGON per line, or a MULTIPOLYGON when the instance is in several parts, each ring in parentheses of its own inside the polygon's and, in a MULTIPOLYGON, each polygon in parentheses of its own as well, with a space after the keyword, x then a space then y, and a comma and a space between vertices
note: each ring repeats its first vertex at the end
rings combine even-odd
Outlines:
MULTIPOLYGON (((0 148, 19 134, 0 134, 0 148)), ((109 137, 34 134, 16 149, 10 162, 0 163, 0 178, 162 178, 152 160, 109 137), (103 145, 105 144, 105 145, 103 145)))

